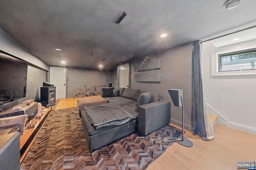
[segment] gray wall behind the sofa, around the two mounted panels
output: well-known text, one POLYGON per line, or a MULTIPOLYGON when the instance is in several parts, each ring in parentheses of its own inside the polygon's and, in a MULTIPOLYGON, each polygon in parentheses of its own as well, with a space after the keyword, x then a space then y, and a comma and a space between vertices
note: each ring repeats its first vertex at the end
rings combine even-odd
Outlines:
POLYGON ((131 88, 143 91, 160 92, 161 99, 171 102, 171 119, 175 125, 181 125, 182 107, 175 107, 171 101, 168 89, 183 89, 185 129, 191 131, 191 43, 160 52, 154 56, 146 56, 142 60, 134 60, 131 64, 131 88), (150 71, 134 71, 135 63, 143 63, 146 59, 161 58, 161 68, 150 71), (161 82, 135 82, 134 74, 160 72, 161 82))

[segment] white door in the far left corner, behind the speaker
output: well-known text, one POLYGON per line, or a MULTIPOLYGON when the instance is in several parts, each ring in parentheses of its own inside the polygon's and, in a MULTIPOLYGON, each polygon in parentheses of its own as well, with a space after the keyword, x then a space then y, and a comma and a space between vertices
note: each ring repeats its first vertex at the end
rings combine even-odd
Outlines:
POLYGON ((50 83, 56 86, 56 99, 66 98, 66 68, 50 67, 50 83))

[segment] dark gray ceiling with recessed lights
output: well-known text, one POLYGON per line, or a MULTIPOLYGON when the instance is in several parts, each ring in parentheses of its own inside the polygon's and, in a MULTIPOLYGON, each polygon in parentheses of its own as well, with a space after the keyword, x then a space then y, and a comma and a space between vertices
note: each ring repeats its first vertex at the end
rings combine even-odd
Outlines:
POLYGON ((133 57, 255 22, 256 0, 242 0, 233 10, 225 10, 225 2, 0 0, 0 28, 50 66, 65 66, 60 63, 65 60, 71 67, 103 64, 108 70, 133 57), (117 25, 124 11, 128 15, 117 25), (162 33, 168 36, 161 38, 162 33))

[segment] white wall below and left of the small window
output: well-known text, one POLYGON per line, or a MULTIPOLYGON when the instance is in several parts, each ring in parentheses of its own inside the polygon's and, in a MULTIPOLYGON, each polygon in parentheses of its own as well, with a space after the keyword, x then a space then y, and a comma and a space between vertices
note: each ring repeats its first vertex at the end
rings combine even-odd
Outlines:
POLYGON ((210 42, 202 43, 202 81, 209 114, 217 123, 256 134, 256 75, 212 76, 210 42))

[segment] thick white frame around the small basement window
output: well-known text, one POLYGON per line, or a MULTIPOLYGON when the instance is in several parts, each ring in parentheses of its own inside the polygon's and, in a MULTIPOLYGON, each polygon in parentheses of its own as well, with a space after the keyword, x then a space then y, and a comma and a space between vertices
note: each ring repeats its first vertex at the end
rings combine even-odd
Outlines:
POLYGON ((211 75, 212 76, 230 76, 230 75, 251 75, 256 74, 254 70, 241 70, 241 71, 219 71, 219 56, 238 53, 242 51, 250 51, 256 49, 256 41, 249 41, 246 43, 239 43, 235 45, 229 45, 225 47, 217 48, 212 52, 212 64, 211 64, 211 75))

